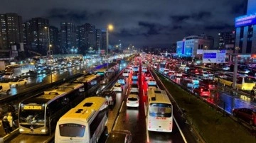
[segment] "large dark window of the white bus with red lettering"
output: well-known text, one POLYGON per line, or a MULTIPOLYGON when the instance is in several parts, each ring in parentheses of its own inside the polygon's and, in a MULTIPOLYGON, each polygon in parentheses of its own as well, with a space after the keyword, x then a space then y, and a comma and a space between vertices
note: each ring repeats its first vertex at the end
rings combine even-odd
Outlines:
POLYGON ((171 105, 166 103, 151 103, 149 115, 152 117, 171 117, 171 105))

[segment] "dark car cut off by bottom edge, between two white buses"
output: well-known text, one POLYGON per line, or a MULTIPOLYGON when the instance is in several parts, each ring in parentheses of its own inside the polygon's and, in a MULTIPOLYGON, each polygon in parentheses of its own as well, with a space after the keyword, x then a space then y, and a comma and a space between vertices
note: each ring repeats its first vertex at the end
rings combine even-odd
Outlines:
POLYGON ((112 130, 105 143, 132 143, 132 133, 128 130, 112 130))

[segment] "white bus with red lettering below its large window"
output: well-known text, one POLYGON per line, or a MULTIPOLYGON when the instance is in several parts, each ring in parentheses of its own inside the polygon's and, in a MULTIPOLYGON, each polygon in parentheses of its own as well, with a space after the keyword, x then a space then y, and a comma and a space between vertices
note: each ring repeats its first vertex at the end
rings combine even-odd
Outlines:
POLYGON ((147 130, 156 132, 172 132, 173 106, 166 91, 159 88, 149 88, 146 105, 147 130))

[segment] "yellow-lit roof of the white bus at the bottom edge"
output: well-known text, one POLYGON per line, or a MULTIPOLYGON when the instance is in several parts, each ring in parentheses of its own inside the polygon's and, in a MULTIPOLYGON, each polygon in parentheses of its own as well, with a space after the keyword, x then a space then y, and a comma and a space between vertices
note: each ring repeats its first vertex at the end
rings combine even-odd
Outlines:
POLYGON ((81 103, 79 103, 75 108, 72 108, 65 113, 59 121, 62 120, 81 120, 88 122, 95 113, 99 112, 105 107, 107 107, 107 99, 102 97, 88 97, 85 98, 81 103))

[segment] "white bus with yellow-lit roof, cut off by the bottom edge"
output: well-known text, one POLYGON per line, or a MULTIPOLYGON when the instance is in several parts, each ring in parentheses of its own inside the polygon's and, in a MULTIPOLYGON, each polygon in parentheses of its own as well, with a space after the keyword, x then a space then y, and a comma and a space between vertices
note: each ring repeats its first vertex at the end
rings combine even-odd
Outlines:
POLYGON ((107 99, 88 97, 58 120, 55 143, 98 142, 107 123, 107 99))

